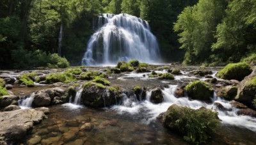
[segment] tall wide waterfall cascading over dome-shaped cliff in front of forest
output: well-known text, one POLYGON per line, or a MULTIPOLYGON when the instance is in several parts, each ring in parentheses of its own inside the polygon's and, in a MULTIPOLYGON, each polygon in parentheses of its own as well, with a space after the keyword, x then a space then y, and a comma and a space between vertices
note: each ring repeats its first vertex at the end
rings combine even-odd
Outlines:
MULTIPOLYGON (((93 21, 94 23, 94 21, 93 21)), ((145 20, 128 14, 101 14, 88 42, 83 66, 116 64, 131 59, 159 62, 159 46, 145 20)))

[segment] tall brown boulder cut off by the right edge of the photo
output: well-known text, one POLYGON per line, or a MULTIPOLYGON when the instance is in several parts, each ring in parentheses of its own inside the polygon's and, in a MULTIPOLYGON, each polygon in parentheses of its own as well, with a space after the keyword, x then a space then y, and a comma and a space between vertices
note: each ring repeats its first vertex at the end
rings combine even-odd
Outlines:
POLYGON ((235 100, 248 106, 252 106, 252 101, 255 99, 255 94, 256 67, 253 69, 253 72, 244 78, 244 80, 239 84, 235 100))

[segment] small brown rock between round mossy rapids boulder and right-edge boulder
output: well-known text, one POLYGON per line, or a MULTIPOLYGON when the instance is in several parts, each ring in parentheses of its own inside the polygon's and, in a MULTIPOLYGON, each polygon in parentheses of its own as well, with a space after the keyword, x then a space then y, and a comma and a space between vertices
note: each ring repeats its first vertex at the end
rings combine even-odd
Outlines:
POLYGON ((226 100, 233 100, 237 95, 237 86, 224 86, 217 92, 217 95, 226 100))

